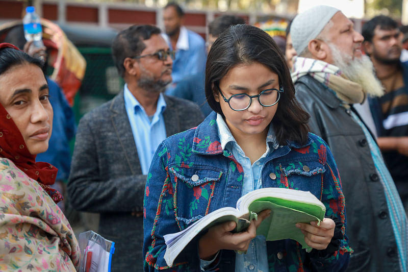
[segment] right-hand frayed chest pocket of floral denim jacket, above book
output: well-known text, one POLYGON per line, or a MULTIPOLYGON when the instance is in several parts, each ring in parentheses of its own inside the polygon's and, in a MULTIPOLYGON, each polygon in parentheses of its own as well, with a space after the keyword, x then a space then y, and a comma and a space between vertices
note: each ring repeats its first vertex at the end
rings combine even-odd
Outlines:
POLYGON ((318 161, 294 161, 279 165, 282 171, 281 183, 291 189, 310 191, 320 196, 323 175, 326 168, 318 161))

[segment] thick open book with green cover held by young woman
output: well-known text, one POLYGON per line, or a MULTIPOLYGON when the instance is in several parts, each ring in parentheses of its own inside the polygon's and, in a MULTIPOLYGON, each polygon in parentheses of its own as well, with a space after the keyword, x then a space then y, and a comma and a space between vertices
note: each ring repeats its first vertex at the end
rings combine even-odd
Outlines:
POLYGON ((262 221, 257 229, 257 235, 265 236, 268 241, 293 239, 298 241, 303 249, 311 248, 304 242, 304 235, 296 228, 298 222, 323 220, 326 208, 311 192, 286 188, 262 188, 240 197, 237 208, 224 207, 203 216, 183 231, 166 234, 167 245, 164 259, 171 266, 174 259, 186 245, 201 231, 225 221, 237 222, 236 232, 246 230, 252 219, 257 219, 257 213, 270 209, 271 215, 262 221))

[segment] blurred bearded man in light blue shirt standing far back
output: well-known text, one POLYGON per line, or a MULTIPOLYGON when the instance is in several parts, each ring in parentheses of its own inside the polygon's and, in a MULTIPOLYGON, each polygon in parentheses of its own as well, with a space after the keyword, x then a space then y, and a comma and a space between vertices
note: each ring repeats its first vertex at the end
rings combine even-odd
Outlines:
POLYGON ((175 51, 172 84, 167 88, 168 94, 184 78, 204 73, 206 68, 206 43, 197 33, 183 26, 184 11, 175 2, 168 3, 163 10, 165 33, 162 34, 170 50, 175 51))

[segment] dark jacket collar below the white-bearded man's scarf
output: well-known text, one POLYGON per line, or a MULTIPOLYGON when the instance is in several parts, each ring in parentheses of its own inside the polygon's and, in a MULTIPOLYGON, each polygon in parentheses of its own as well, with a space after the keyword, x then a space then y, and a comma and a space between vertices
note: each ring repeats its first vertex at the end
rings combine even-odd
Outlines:
POLYGON ((295 85, 298 82, 306 85, 308 87, 308 91, 311 91, 317 96, 319 96, 320 99, 323 101, 323 103, 326 104, 328 107, 332 109, 336 109, 342 105, 342 101, 339 99, 339 97, 336 96, 336 93, 334 90, 318 82, 311 76, 305 75, 303 77, 300 77, 296 81, 295 85))

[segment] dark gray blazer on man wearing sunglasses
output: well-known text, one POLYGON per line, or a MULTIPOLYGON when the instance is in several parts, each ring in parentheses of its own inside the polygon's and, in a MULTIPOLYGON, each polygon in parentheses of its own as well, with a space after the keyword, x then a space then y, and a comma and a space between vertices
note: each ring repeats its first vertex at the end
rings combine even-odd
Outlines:
MULTIPOLYGON (((164 97, 167 136, 203 120, 195 103, 164 97)), ((81 118, 68 182, 72 206, 99 213, 98 233, 116 243, 113 272, 143 271, 145 182, 121 91, 81 118)))

